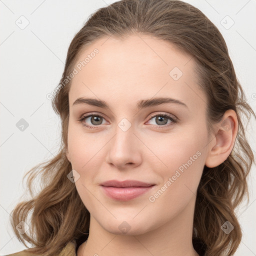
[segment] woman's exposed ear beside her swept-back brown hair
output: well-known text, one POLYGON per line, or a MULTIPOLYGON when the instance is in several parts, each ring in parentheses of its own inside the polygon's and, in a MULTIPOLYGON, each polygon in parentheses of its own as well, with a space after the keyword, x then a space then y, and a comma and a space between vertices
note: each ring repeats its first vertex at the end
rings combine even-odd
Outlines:
POLYGON ((238 122, 235 111, 226 110, 222 120, 216 124, 215 139, 212 139, 212 143, 209 144, 209 151, 205 159, 207 167, 218 166, 226 160, 233 149, 237 129, 238 122))

